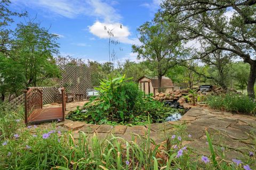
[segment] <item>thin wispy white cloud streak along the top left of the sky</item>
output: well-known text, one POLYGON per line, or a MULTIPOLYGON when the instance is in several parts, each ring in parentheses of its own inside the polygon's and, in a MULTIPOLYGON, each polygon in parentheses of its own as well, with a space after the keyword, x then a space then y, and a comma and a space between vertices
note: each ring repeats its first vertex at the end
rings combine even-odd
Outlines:
POLYGON ((12 0, 12 3, 20 7, 37 8, 48 16, 50 13, 51 17, 76 18, 78 15, 87 15, 103 19, 105 22, 119 21, 122 18, 114 7, 101 0, 12 0))

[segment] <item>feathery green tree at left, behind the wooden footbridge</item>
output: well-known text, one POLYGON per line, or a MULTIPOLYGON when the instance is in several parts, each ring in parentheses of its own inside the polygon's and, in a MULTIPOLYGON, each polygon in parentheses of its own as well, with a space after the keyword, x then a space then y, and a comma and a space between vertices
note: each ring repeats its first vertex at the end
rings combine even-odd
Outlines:
POLYGON ((52 55, 58 53, 56 38, 38 23, 17 25, 8 54, 0 54, 2 95, 6 92, 18 95, 28 86, 41 85, 46 79, 60 75, 52 55))

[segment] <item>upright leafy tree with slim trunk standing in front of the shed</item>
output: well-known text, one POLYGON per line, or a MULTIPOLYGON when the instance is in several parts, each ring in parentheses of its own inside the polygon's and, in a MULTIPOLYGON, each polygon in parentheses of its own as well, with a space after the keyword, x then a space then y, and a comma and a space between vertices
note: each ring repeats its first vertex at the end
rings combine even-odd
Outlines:
POLYGON ((151 22, 146 22, 138 29, 141 45, 132 45, 138 59, 146 59, 148 68, 155 71, 158 77, 158 89, 161 89, 162 76, 173 67, 181 54, 181 43, 177 41, 178 35, 175 24, 163 21, 157 13, 151 22))

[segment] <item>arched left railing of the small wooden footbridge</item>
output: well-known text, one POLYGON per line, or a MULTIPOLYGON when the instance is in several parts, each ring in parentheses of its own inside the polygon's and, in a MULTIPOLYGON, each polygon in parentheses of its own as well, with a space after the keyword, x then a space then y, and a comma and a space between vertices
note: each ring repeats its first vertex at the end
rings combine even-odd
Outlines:
POLYGON ((28 123, 28 117, 36 109, 43 108, 43 94, 38 88, 29 88, 24 91, 25 97, 25 123, 28 123))

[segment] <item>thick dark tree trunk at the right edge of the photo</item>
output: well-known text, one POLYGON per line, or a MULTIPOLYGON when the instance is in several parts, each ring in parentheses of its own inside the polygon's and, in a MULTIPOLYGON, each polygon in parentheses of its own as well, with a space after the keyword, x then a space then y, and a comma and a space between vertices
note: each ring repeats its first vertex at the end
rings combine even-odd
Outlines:
POLYGON ((255 98, 254 84, 256 80, 256 61, 250 63, 250 75, 248 78, 247 93, 250 98, 255 98))

